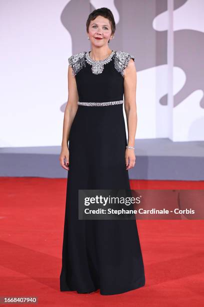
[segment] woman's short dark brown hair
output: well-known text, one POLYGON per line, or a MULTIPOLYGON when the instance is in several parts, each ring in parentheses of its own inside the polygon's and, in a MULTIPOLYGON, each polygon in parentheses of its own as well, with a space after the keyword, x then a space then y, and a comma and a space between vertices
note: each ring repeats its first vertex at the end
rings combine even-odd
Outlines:
POLYGON ((111 26, 111 35, 113 35, 115 33, 115 21, 114 21, 112 12, 107 8, 100 8, 100 9, 94 10, 88 15, 88 19, 86 21, 86 32, 88 33, 88 27, 89 27, 90 22, 94 20, 97 16, 102 16, 109 20, 110 26, 111 26))

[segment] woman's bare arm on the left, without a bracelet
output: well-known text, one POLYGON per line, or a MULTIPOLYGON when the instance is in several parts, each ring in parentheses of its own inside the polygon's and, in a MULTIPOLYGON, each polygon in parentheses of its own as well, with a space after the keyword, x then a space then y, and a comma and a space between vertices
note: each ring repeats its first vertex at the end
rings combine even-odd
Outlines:
POLYGON ((63 169, 69 170, 69 150, 68 150, 68 137, 70 127, 73 121, 73 118, 76 114, 78 105, 78 92, 76 87, 75 77, 72 76, 72 68, 68 66, 68 100, 66 103, 63 119, 63 132, 62 132, 62 141, 61 141, 61 153, 59 156, 60 165, 63 169), (66 160, 64 162, 64 159, 66 160))

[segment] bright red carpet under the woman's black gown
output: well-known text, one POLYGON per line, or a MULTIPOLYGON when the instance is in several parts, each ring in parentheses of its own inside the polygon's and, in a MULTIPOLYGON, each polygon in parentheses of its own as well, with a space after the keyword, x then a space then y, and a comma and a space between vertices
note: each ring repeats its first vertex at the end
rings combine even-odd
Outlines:
MULTIPOLYGON (((204 189, 204 182, 130 185, 204 189)), ((137 220, 144 287, 107 296, 60 292, 65 191, 66 179, 0 178, 0 296, 37 296, 41 306, 204 305, 202 220, 137 220)))

